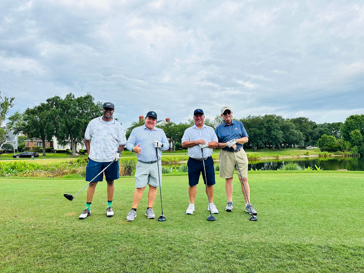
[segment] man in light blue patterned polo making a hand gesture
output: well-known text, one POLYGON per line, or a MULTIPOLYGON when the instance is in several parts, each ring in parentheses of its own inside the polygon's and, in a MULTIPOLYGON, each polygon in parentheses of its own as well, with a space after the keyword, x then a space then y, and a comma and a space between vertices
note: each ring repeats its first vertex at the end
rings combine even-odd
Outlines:
POLYGON ((153 204, 159 187, 159 177, 162 177, 162 151, 169 149, 169 142, 165 132, 155 127, 157 113, 149 111, 145 117, 145 124, 134 128, 126 143, 126 149, 137 154, 138 162, 135 169, 135 191, 133 203, 126 220, 133 221, 137 216, 137 207, 142 199, 144 189, 149 185, 148 206, 145 215, 154 219, 153 204), (155 148, 158 148, 158 162, 155 148), (158 166, 159 165, 159 175, 158 166))

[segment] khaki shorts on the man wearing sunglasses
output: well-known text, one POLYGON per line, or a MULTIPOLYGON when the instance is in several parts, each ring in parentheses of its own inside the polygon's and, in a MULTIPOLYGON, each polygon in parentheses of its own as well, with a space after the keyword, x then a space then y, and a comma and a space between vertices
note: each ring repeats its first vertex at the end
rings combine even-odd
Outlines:
MULTIPOLYGON (((235 153, 236 159, 238 160, 241 178, 248 177, 248 157, 244 149, 235 153)), ((222 150, 220 151, 220 177, 232 178, 234 175, 234 169, 240 177, 239 169, 235 161, 234 153, 222 150)))

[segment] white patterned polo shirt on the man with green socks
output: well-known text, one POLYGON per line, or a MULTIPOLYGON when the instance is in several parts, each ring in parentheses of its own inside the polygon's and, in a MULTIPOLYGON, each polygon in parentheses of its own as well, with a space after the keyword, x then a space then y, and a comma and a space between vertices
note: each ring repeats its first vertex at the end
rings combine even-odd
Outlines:
POLYGON ((126 144, 123 127, 114 118, 104 122, 102 116, 92 119, 86 128, 85 139, 90 140, 90 154, 96 162, 111 162, 120 145, 126 144))

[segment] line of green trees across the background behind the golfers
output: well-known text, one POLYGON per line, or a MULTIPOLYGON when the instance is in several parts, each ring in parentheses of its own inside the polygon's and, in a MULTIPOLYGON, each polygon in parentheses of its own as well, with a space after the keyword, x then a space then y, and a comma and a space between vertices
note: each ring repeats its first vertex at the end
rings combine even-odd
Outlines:
MULTIPOLYGON (((1 95, 1 94, 0 94, 1 95)), ((14 98, 1 99, 0 96, 0 127, 1 122, 14 98)), ((76 143, 83 143, 84 132, 91 119, 102 115, 102 103, 95 102, 91 94, 76 98, 72 93, 64 99, 59 96, 49 98, 44 103, 33 108, 27 108, 23 113, 15 112, 8 119, 4 131, 13 131, 15 134, 23 132, 29 138, 40 138, 43 142, 43 155, 46 154, 45 142, 51 141, 55 136, 62 144, 70 144, 71 154, 75 155, 76 143)), ((245 146, 253 150, 266 147, 281 149, 282 147, 304 147, 318 145, 323 151, 354 151, 364 155, 364 115, 351 115, 345 122, 319 123, 306 117, 284 119, 280 115, 266 114, 249 115, 240 120, 248 132, 249 142, 245 146)), ((205 118, 205 124, 216 128, 223 122, 220 115, 214 119, 205 118)), ((144 121, 133 122, 126 132, 144 124, 144 121)), ((180 123, 167 123, 159 126, 171 139, 172 148, 181 147, 183 132, 194 124, 193 119, 180 123)))

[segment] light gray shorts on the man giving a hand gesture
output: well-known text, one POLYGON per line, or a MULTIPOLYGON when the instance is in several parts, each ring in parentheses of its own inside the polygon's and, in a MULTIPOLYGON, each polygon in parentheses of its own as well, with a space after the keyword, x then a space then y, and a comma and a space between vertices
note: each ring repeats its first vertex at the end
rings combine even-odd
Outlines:
MULTIPOLYGON (((162 161, 158 161, 159 165, 159 177, 162 180, 162 161)), ((143 163, 137 161, 137 167, 135 168, 135 187, 142 188, 146 185, 159 188, 158 181, 158 166, 157 162, 152 164, 143 163)), ((161 181, 162 185, 162 181, 161 181)))

